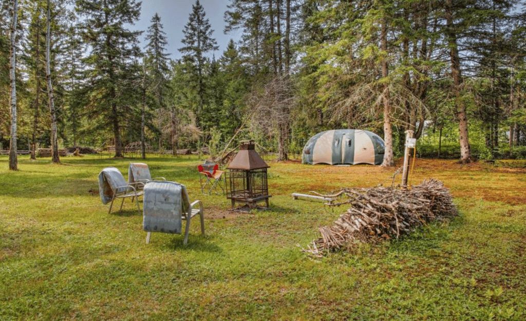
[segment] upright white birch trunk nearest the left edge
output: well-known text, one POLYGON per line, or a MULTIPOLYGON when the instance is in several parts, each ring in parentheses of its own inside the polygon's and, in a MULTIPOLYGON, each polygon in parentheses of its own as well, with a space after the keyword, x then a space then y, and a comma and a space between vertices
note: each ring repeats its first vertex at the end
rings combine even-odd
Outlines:
POLYGON ((16 147, 16 20, 18 1, 13 0, 13 20, 11 23, 11 54, 9 55, 9 79, 11 80, 11 140, 9 141, 9 170, 18 170, 16 147))

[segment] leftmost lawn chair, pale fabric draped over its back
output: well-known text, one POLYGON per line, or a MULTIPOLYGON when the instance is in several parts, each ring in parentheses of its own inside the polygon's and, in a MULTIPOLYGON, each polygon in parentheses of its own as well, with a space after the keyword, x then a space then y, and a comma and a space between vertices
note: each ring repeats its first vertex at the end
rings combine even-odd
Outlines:
POLYGON ((123 174, 115 167, 106 167, 103 169, 99 173, 98 183, 100 200, 102 200, 103 204, 112 202, 109 206, 108 214, 112 212, 113 201, 115 201, 116 198, 123 199, 120 203, 120 211, 123 209, 124 199, 127 197, 131 197, 131 201, 135 199, 137 210, 140 212, 138 198, 144 193, 140 191, 140 189, 144 187, 144 183, 135 182, 128 184, 126 180, 124 180, 123 174))

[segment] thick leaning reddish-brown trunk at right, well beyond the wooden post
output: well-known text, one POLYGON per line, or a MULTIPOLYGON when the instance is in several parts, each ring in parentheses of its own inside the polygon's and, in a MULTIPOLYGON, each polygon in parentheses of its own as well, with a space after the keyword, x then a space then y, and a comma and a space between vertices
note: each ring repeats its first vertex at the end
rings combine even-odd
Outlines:
POLYGON ((460 86, 462 84, 462 74, 460 72, 460 57, 457 45, 457 34, 453 30, 453 6, 451 0, 447 1, 447 26, 449 57, 451 61, 451 76, 453 77, 453 95, 456 97, 457 117, 459 119, 459 141, 460 141, 460 160, 459 163, 471 162, 471 146, 468 135, 468 115, 466 104, 460 97, 460 86))

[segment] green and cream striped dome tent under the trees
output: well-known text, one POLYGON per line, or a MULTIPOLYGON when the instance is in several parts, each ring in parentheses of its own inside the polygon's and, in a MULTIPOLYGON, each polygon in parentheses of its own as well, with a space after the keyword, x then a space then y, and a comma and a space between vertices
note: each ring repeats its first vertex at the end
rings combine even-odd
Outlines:
POLYGON ((327 130, 312 136, 303 149, 304 164, 372 164, 383 161, 385 144, 375 133, 360 129, 327 130))

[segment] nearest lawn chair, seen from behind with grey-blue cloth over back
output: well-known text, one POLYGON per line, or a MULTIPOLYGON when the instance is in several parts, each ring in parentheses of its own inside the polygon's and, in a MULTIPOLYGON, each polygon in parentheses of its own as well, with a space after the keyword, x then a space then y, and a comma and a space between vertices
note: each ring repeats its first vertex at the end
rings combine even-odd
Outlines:
POLYGON ((198 215, 201 219, 201 234, 205 235, 203 202, 190 203, 188 192, 183 184, 169 181, 150 181, 144 187, 143 230, 147 231, 146 243, 150 242, 151 232, 181 233, 182 220, 186 220, 185 239, 188 242, 190 220, 198 215), (199 205, 197 209, 194 206, 199 205))

